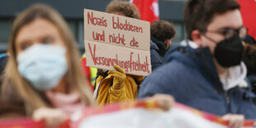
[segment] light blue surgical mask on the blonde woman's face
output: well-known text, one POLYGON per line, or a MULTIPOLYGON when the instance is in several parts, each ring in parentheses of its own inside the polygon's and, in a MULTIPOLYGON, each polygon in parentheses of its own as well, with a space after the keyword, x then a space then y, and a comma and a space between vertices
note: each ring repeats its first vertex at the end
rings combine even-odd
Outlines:
POLYGON ((55 88, 67 72, 66 50, 55 45, 32 45, 17 56, 18 71, 39 91, 55 88))

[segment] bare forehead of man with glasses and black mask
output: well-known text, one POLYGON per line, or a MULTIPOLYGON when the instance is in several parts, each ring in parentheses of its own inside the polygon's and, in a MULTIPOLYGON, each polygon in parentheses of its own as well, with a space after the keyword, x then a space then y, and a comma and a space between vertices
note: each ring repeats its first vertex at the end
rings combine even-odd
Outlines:
POLYGON ((216 14, 207 26, 207 30, 218 30, 227 27, 237 29, 241 26, 243 26, 241 14, 239 9, 235 9, 223 14, 216 14))

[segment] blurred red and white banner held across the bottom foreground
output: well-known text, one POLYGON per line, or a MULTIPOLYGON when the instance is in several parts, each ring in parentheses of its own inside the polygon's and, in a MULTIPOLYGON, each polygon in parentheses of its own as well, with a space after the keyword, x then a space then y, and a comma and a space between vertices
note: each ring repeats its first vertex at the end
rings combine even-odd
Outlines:
MULTIPOLYGON (((70 121, 65 121, 57 128, 108 128, 112 127, 113 124, 120 127, 127 124, 131 127, 136 127, 138 124, 135 124, 135 122, 139 123, 139 126, 157 124, 157 126, 160 125, 161 127, 162 124, 162 126, 165 125, 165 127, 175 126, 178 128, 183 128, 184 125, 188 125, 188 127, 189 125, 192 125, 192 127, 196 126, 198 128, 227 128, 227 126, 229 126, 229 121, 223 121, 220 116, 199 111, 192 107, 184 106, 178 102, 175 103, 170 111, 151 111, 158 108, 156 102, 145 101, 116 103, 105 107, 89 107, 85 108, 83 111, 74 113, 73 116, 71 116, 70 121), (131 116, 133 117, 131 118, 131 116), (148 120, 148 117, 151 120, 148 120), (184 124, 180 126, 181 122, 184 124)), ((254 124, 255 121, 244 121, 243 128, 253 128, 254 124)), ((34 127, 45 128, 45 121, 33 121, 32 119, 0 121, 0 128, 34 127)))

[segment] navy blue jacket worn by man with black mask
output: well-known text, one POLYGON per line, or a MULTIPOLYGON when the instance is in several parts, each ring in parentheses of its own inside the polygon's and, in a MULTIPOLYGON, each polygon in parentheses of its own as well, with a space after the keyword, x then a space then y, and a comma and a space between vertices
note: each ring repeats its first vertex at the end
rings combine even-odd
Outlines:
POLYGON ((169 50, 164 65, 143 81, 139 97, 155 93, 173 95, 177 102, 217 116, 233 113, 256 119, 254 93, 239 87, 224 91, 209 48, 169 50))

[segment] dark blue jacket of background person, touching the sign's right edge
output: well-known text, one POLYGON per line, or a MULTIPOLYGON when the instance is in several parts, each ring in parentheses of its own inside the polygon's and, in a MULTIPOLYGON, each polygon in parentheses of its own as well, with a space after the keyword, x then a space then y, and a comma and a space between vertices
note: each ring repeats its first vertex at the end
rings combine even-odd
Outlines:
POLYGON ((152 65, 152 71, 157 69, 159 66, 163 64, 163 59, 158 54, 159 48, 157 45, 155 45, 152 40, 150 41, 150 59, 151 59, 151 65, 152 65))

